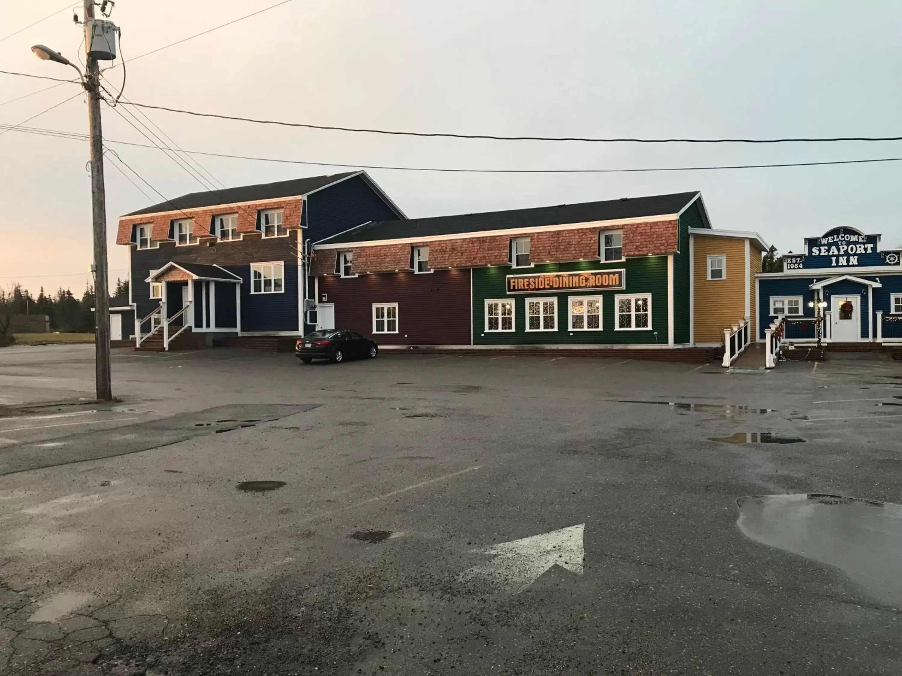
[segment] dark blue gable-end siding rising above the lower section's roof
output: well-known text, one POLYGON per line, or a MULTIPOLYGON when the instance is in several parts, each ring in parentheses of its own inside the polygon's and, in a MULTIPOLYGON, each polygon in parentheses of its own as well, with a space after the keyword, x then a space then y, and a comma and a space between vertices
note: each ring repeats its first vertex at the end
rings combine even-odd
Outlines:
POLYGON ((304 233, 305 239, 313 242, 368 221, 394 221, 400 218, 361 176, 348 178, 314 193, 309 196, 307 206, 304 214, 307 230, 304 233))

